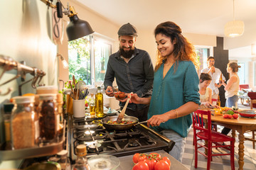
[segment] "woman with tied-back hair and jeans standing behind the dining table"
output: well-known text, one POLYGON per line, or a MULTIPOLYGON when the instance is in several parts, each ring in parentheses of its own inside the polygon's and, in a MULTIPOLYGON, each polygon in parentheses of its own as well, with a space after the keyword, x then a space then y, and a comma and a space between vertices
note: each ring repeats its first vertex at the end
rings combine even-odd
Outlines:
MULTIPOLYGON (((238 106, 238 90, 239 90, 239 77, 238 77, 238 68, 240 66, 236 62, 228 63, 227 72, 230 75, 230 79, 228 79, 227 84, 223 81, 222 85, 225 86, 225 98, 226 103, 225 106, 228 108, 232 108, 232 106, 238 106)), ((223 128, 221 133, 228 135, 230 132, 229 128, 223 128)))

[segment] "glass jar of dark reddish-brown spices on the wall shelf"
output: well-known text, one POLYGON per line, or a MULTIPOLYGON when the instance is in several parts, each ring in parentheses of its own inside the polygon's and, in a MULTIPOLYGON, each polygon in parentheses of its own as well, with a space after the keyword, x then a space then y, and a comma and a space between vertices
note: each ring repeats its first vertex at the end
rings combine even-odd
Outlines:
POLYGON ((40 94, 39 95, 39 125, 41 142, 56 142, 59 116, 56 104, 56 94, 40 94))

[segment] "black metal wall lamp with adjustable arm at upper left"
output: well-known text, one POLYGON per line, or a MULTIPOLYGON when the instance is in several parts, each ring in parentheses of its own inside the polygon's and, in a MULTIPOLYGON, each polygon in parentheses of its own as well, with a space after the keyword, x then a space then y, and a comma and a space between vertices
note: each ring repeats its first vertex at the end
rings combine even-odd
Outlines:
POLYGON ((78 13, 75 13, 75 8, 73 6, 68 6, 68 8, 64 8, 63 4, 61 4, 60 1, 58 1, 56 5, 52 4, 52 0, 41 1, 43 1, 47 6, 50 6, 51 8, 57 8, 58 18, 63 18, 63 13, 65 15, 68 15, 68 17, 70 18, 70 23, 68 23, 68 26, 66 28, 68 41, 82 38, 86 35, 94 33, 90 24, 87 21, 83 21, 78 18, 78 13), (62 10, 62 8, 64 8, 64 10, 62 10))

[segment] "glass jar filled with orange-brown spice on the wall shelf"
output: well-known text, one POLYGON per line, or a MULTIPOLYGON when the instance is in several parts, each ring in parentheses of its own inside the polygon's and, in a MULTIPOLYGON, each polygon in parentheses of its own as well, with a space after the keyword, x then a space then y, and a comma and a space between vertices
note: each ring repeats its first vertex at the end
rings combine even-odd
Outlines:
POLYGON ((34 111, 34 96, 14 97, 11 111, 11 144, 13 149, 35 147, 38 144, 38 114, 34 111))

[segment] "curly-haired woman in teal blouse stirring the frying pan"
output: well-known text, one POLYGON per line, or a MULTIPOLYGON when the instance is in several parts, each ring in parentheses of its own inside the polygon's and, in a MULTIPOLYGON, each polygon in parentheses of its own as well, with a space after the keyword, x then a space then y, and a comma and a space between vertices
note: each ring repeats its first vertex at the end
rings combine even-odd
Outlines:
POLYGON ((132 94, 131 99, 133 103, 150 103, 147 125, 176 142, 170 154, 181 162, 192 124, 191 113, 200 103, 198 60, 193 45, 176 23, 160 23, 154 35, 157 54, 152 96, 139 98, 132 94))

